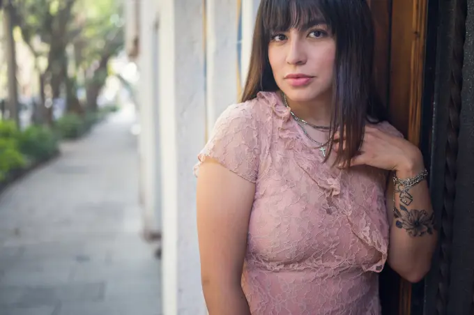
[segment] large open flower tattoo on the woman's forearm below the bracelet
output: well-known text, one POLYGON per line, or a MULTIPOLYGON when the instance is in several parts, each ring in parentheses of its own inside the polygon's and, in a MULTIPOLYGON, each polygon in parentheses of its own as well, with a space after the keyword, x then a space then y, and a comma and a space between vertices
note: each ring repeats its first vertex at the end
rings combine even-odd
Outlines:
POLYGON ((408 235, 424 236, 425 234, 433 234, 436 229, 434 222, 434 213, 429 215, 426 210, 408 210, 405 206, 400 204, 400 210, 394 208, 395 225, 399 229, 406 229, 408 235))

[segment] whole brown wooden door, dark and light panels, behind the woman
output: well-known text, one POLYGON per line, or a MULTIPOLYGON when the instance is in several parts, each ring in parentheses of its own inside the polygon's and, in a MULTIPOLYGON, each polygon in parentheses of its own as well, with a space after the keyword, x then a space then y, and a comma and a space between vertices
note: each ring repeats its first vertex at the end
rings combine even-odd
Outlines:
MULTIPOLYGON (((390 123, 422 149, 429 168, 435 68, 432 48, 436 47, 436 31, 432 31, 432 26, 436 25, 436 0, 368 1, 376 26, 377 89, 385 95, 390 123)), ((382 272, 383 314, 422 314, 424 295, 424 282, 413 286, 389 266, 382 272)))

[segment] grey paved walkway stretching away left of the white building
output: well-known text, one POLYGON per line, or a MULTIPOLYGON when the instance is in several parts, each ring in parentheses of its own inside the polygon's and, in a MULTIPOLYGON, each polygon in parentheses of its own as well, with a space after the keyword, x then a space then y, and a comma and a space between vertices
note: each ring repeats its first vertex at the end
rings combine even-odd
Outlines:
POLYGON ((0 197, 1 315, 161 314, 133 121, 110 117, 0 197))

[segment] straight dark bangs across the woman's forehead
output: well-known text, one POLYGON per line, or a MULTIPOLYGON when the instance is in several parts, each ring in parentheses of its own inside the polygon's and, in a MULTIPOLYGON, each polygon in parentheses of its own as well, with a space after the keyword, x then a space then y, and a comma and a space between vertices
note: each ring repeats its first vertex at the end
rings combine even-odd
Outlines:
POLYGON ((332 31, 321 0, 269 0, 262 9, 262 26, 268 38, 277 31, 307 29, 315 24, 326 24, 332 31))

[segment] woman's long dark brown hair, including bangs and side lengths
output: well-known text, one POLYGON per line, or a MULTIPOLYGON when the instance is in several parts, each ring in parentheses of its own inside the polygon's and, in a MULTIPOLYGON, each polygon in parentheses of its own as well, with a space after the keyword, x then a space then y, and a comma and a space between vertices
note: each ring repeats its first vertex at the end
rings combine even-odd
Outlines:
MULTIPOLYGON (((302 29, 314 20, 326 22, 336 41, 330 135, 346 132, 346 150, 339 142, 336 162, 349 166, 358 154, 367 118, 371 123, 387 118, 374 89, 374 25, 365 0, 261 0, 241 101, 255 98, 259 91, 280 90, 268 61, 273 31, 302 29)), ((332 147, 332 141, 329 144, 332 147)))

